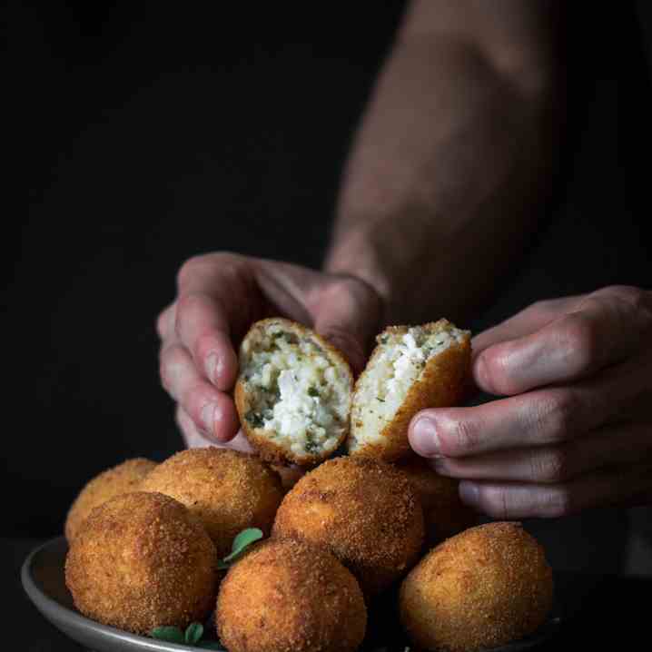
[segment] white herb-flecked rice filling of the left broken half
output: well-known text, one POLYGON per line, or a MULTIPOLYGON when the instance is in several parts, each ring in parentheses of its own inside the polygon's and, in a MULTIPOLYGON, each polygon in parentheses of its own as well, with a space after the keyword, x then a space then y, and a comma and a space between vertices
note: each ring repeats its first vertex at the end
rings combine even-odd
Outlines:
POLYGON ((254 428, 296 455, 335 449, 347 422, 350 379, 308 336, 272 324, 245 341, 244 377, 254 394, 245 415, 254 428))

